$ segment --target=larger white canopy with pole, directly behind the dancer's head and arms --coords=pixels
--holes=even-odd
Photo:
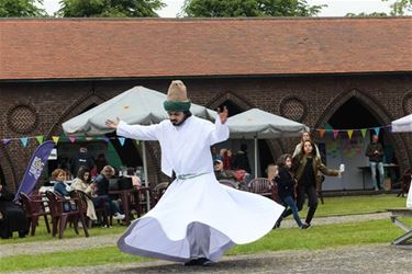
[[[105,101],[104,103],[63,123],[63,130],[70,136],[93,136],[113,132],[105,121],[116,117],[131,125],[151,125],[168,118],[163,103],[167,95],[138,85]],[[216,113],[204,106],[191,104],[190,112],[198,117],[214,121]],[[147,160],[145,141],[142,141],[143,169],[147,186]],[[147,199],[149,203],[149,199]],[[149,205],[148,205],[149,207]]]

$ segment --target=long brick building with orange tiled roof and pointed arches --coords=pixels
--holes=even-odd
[[[3,19],[0,136],[51,139],[63,122],[122,91],[166,92],[171,79],[211,109],[259,107],[312,128],[382,127],[412,112],[411,44],[412,18]],[[381,134],[401,171],[411,167],[411,134]],[[260,165],[296,142],[259,140]],[[10,189],[35,147],[0,145]],[[140,161],[140,147],[114,147],[123,161]],[[148,150],[149,181],[165,180],[158,146]]]

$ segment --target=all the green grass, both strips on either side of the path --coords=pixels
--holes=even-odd
[[[319,205],[315,217],[377,213],[385,212],[386,208],[404,207],[405,205],[405,198],[397,197],[394,194],[326,197],[324,201],[324,205]],[[305,212],[301,212],[301,216],[304,215]],[[405,219],[405,222],[412,226],[412,219]],[[120,235],[125,229],[125,226],[120,225],[115,225],[110,229],[92,228],[90,229],[90,235],[91,237],[99,235]],[[272,230],[256,242],[236,246],[229,251],[227,255],[281,250],[312,250],[339,246],[389,244],[402,233],[403,230],[392,225],[389,218],[361,222],[319,225],[309,230],[281,228]],[[65,231],[65,238],[83,237],[81,230],[80,235],[81,236],[76,236],[73,228],[67,228]],[[53,238],[46,232],[44,221],[42,220],[35,237],[29,236],[25,239],[14,238],[11,240],[0,240],[0,248],[8,248],[8,243],[29,241],[44,241],[44,244],[46,244],[46,241],[52,240],[58,241],[58,239]],[[124,254],[120,252],[116,247],[92,248],[78,251],[1,258],[0,272],[37,270],[49,267],[51,265],[54,265],[54,267],[82,266],[108,263],[131,263],[147,260],[149,259]]]

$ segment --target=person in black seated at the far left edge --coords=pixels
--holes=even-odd
[[[18,204],[13,203],[14,195],[3,187],[0,182],[0,237],[12,238],[13,231],[24,238],[29,232],[25,212]]]

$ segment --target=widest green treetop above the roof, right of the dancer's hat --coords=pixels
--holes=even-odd
[[[249,18],[312,16],[325,4],[309,5],[305,0],[186,0],[180,16]]]

